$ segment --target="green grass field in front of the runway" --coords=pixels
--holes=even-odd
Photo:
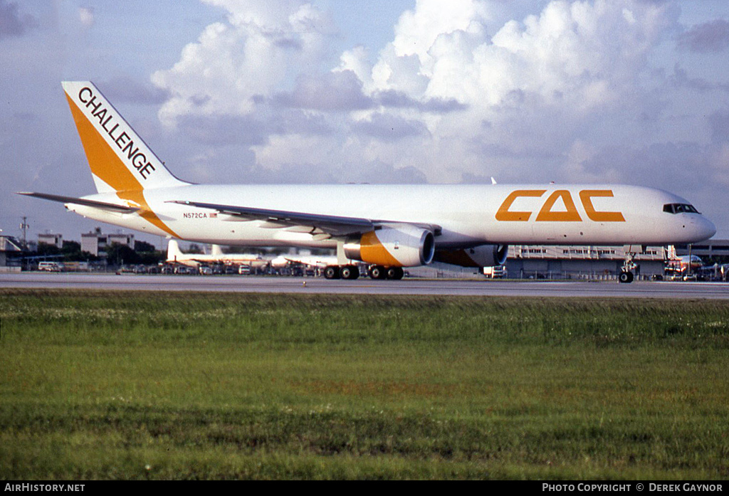
[[[0,290],[0,479],[726,479],[729,302]]]

